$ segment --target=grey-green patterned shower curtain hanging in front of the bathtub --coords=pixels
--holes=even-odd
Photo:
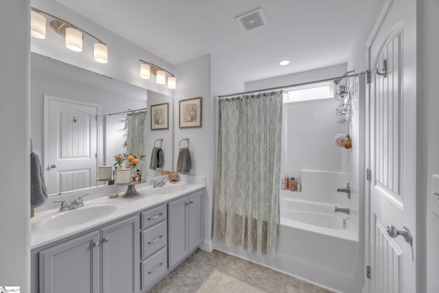
[[[276,255],[282,92],[219,99],[214,240]]]

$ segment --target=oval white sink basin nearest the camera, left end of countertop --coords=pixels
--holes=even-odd
[[[96,205],[91,207],[80,207],[71,211],[63,211],[51,215],[35,224],[41,229],[60,229],[69,226],[78,226],[86,222],[103,218],[116,211],[117,207],[113,205]]]

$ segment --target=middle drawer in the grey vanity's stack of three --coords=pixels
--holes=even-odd
[[[141,232],[142,250],[141,258],[153,255],[167,244],[167,221],[152,226]]]

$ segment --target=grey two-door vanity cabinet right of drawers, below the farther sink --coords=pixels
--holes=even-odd
[[[175,268],[203,240],[203,191],[168,204],[169,269]]]

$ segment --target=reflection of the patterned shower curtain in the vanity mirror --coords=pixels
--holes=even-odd
[[[134,155],[146,155],[146,117],[147,112],[134,112],[127,115],[127,153]],[[143,159],[142,163],[138,166],[140,167],[142,177],[146,176],[147,163]]]

